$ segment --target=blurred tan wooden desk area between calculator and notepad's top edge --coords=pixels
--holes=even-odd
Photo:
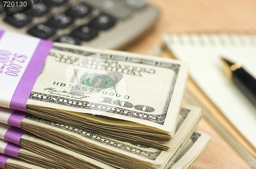
[[[146,54],[153,45],[162,43],[162,36],[165,33],[256,34],[256,1],[254,0],[146,1],[160,10],[160,18],[154,31],[127,51]]]

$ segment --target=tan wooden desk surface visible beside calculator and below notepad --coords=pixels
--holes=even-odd
[[[256,1],[254,0],[147,0],[147,2],[161,11],[159,21],[153,32],[126,51],[148,54],[154,45],[162,43],[164,33],[256,34]],[[211,135],[212,139],[196,163],[206,165],[220,163],[221,167],[218,168],[249,168],[244,166],[245,160],[204,118],[198,129]],[[229,163],[228,167],[223,166],[224,162]],[[243,162],[243,167],[232,167],[231,162]]]

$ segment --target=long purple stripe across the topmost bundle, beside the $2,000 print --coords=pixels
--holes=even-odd
[[[1,34],[1,33],[0,33]],[[12,96],[10,108],[25,111],[30,93],[45,64],[53,42],[41,39]]]

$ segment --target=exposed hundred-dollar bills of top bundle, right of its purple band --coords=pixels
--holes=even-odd
[[[174,136],[187,70],[176,60],[54,43],[26,111],[160,148]]]

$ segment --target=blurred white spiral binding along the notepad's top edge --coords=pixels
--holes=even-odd
[[[168,42],[184,45],[256,46],[256,35],[238,34],[169,34]]]

